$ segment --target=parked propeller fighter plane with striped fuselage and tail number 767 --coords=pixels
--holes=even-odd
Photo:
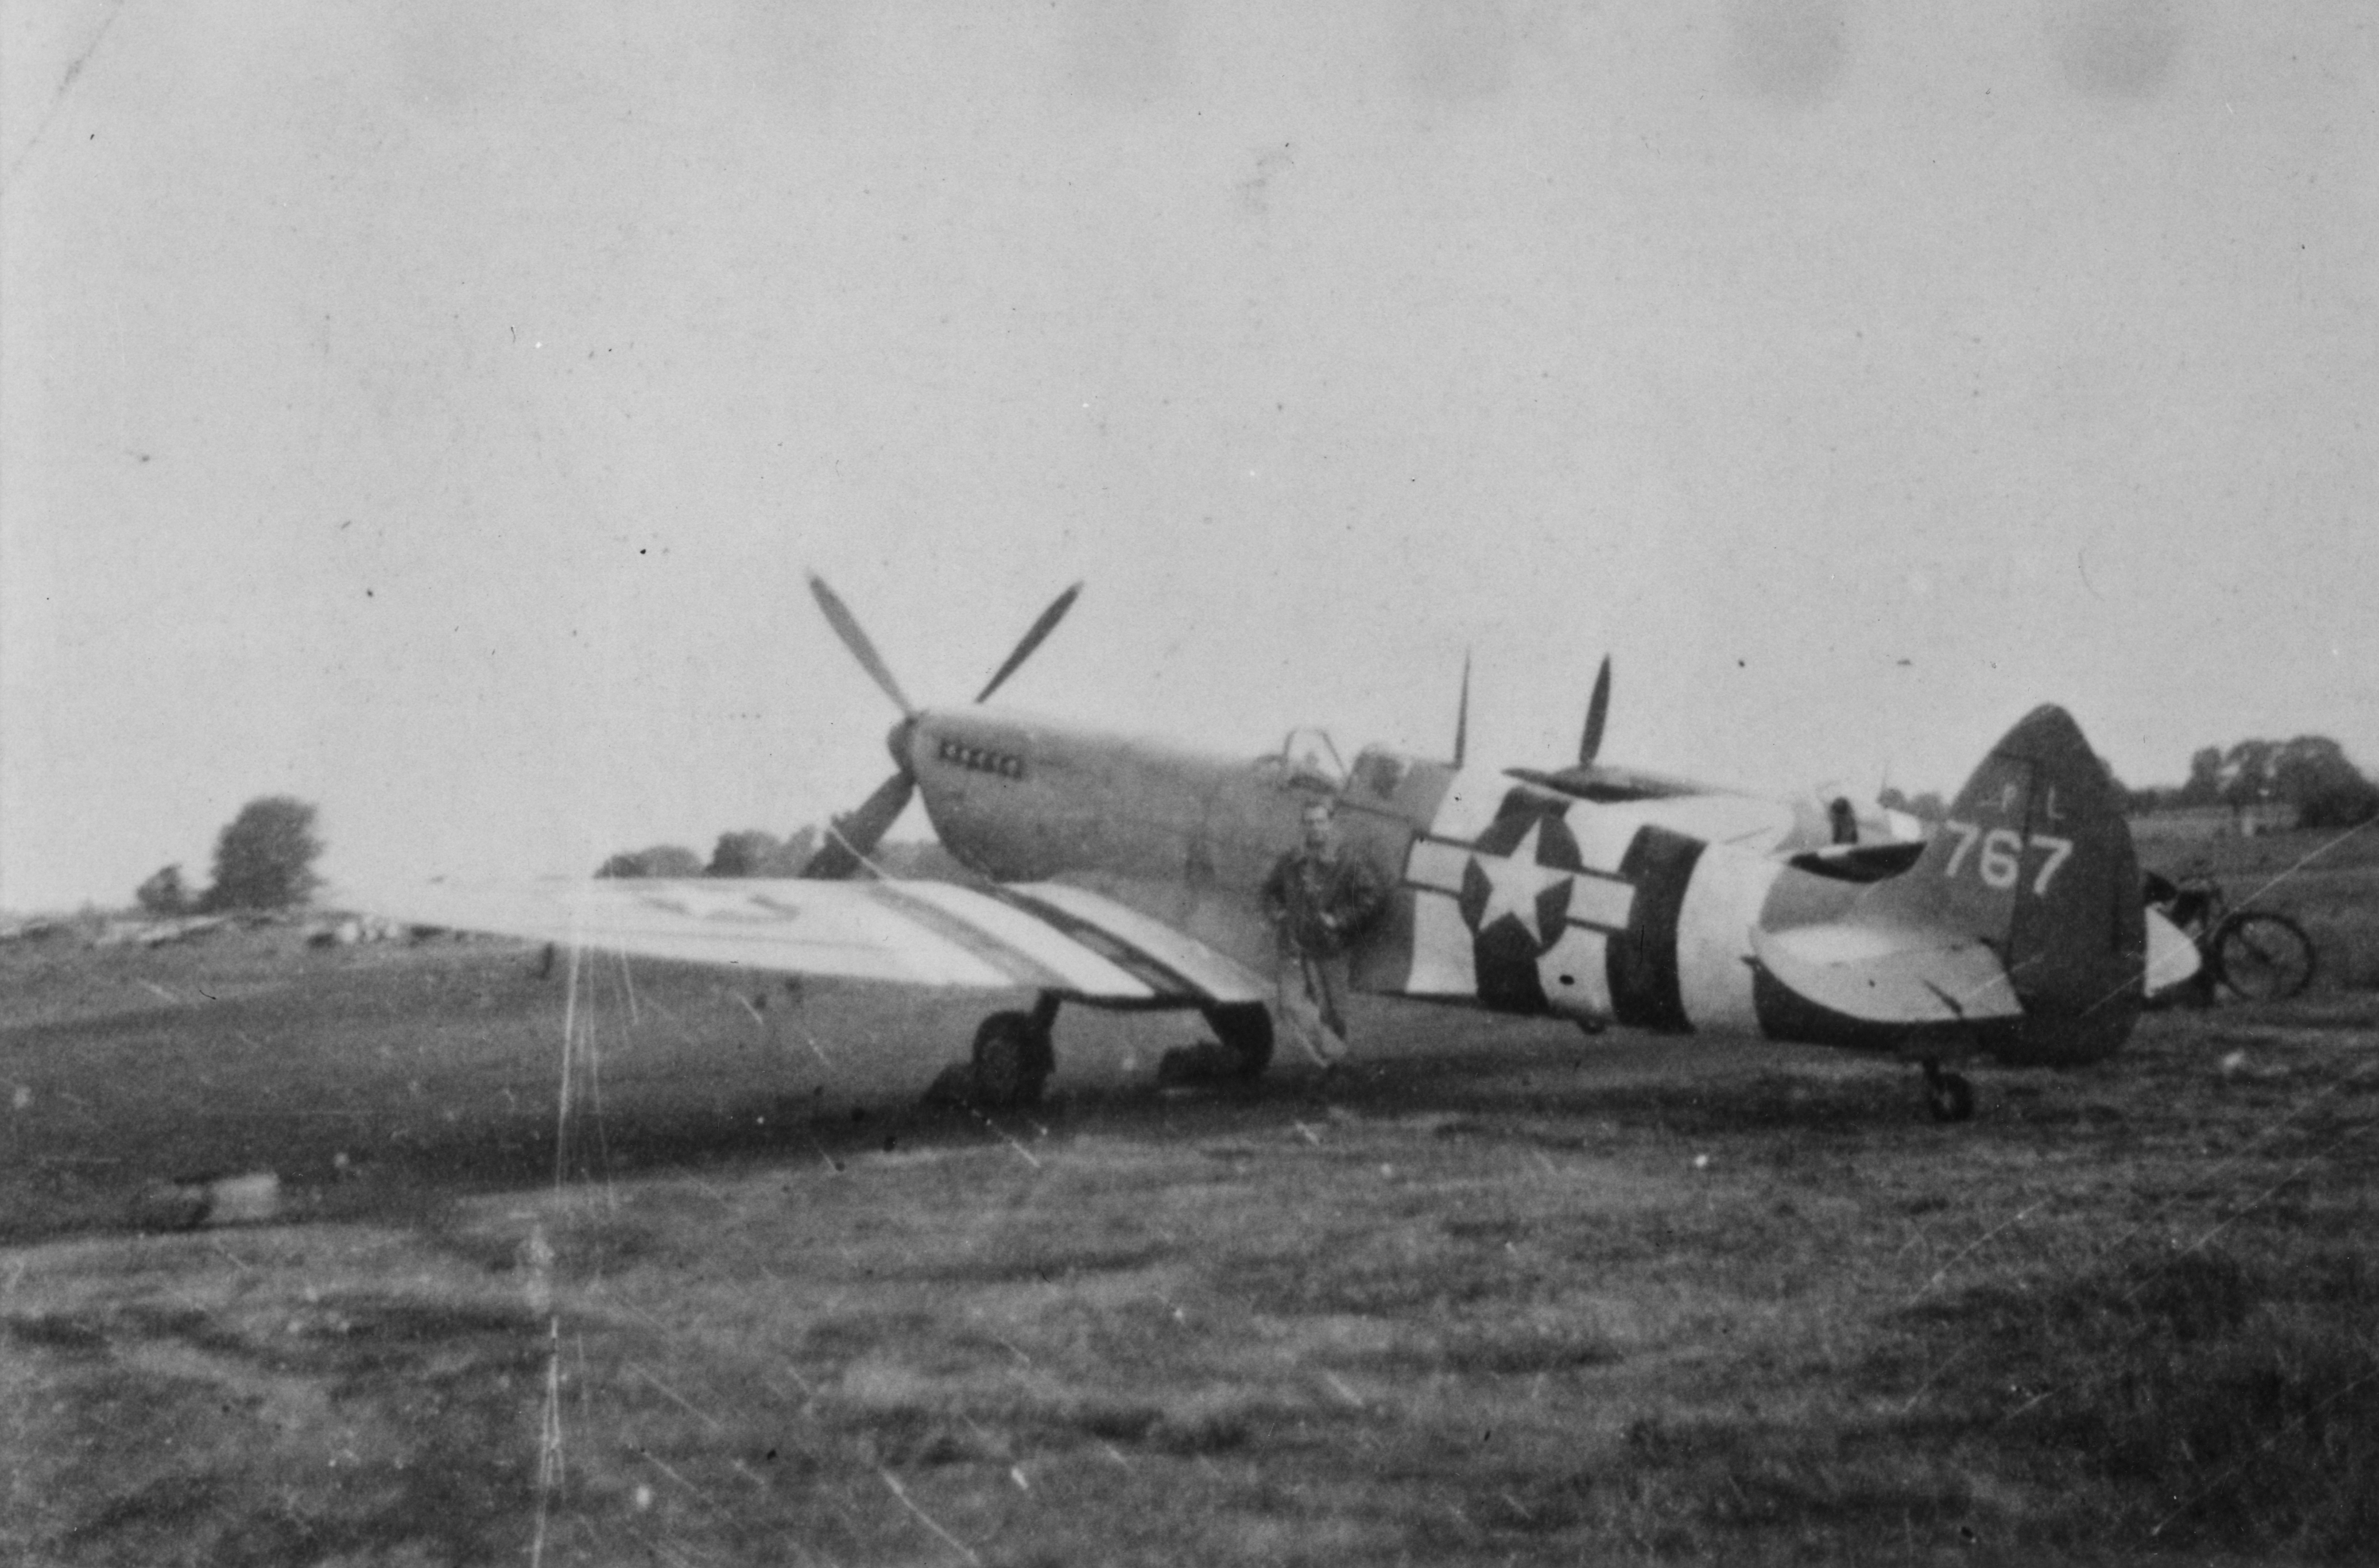
[[[1922,1066],[1941,1121],[1972,1114],[1953,1064],[2098,1061],[2143,992],[2196,964],[2141,907],[2120,799],[2058,707],[1991,747],[1929,838],[1829,854],[1744,835],[1744,797],[1596,771],[1599,719],[1563,776],[1389,747],[1342,766],[1318,733],[1247,759],[992,707],[1078,588],[973,704],[923,709],[811,576],[899,719],[892,776],[799,878],[433,883],[371,904],[416,926],[745,973],[1032,992],[975,1030],[983,1106],[1042,1095],[1063,1004],[1199,1011],[1216,1042],[1173,1066],[1258,1078],[1282,971],[1261,888],[1313,799],[1387,890],[1347,952],[1354,990],[1877,1052]],[[980,885],[873,876],[916,795]]]

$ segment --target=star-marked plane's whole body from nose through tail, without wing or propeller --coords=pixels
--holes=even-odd
[[[1661,1033],[2079,1064],[2143,992],[2139,873],[2063,709],[2010,730],[1927,842],[1796,852],[1744,795],[1589,802],[1382,747],[1351,769],[1225,757],[990,707],[897,730],[942,842],[1002,883],[1073,883],[1251,971],[1261,888],[1316,797],[1392,890],[1356,990]]]

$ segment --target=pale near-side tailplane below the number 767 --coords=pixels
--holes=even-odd
[[[1753,930],[1760,966],[1803,1002],[1856,1023],[2022,1018],[2008,966],[1975,937],[1889,926]]]

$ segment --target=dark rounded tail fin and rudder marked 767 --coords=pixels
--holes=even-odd
[[[2096,1061],[2139,1016],[2148,935],[2132,828],[2060,707],[2032,709],[1991,747],[1917,864],[1851,918],[1994,949],[2025,1009],[1991,1042],[2003,1059]]]

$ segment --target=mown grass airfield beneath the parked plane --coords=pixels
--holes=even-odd
[[[2303,999],[1948,1130],[1882,1064],[1385,1004],[1239,1097],[1068,1011],[987,1121],[916,1109],[980,999],[19,945],[0,1558],[2369,1561],[2362,849],[2267,892]],[[164,1228],[262,1171],[276,1221]]]

